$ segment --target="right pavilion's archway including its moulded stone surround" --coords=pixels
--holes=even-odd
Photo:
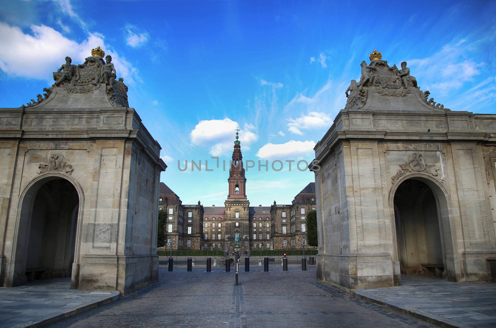
[[[458,281],[446,192],[423,176],[398,181],[391,190],[396,260],[401,274]]]

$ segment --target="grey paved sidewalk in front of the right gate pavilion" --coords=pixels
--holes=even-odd
[[[496,328],[496,283],[401,276],[401,286],[357,289],[355,297],[441,327]]]

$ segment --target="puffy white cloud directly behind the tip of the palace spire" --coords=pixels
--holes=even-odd
[[[233,150],[237,127],[238,123],[229,118],[200,121],[190,133],[191,144],[210,146],[212,156],[226,155]],[[252,124],[245,123],[239,132],[242,148],[248,150],[250,144],[258,139],[258,135],[251,131],[254,129]]]

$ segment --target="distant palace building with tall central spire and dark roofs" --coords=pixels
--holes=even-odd
[[[173,249],[231,251],[236,234],[241,250],[285,250],[307,246],[307,214],[315,209],[315,183],[310,183],[291,204],[250,206],[238,132],[229,170],[224,206],[184,205],[160,183],[159,210],[168,213],[166,231]],[[171,245],[168,245],[170,247]]]

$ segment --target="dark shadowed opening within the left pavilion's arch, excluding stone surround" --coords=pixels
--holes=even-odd
[[[70,277],[79,208],[76,189],[64,179],[48,181],[32,206],[25,241],[27,280]]]

